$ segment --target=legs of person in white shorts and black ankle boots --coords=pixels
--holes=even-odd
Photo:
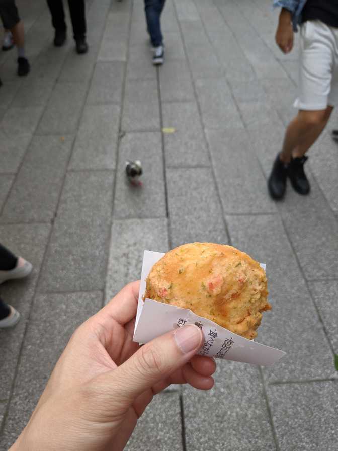
[[[304,173],[305,153],[328,121],[332,67],[334,61],[332,28],[320,21],[305,22],[300,31],[299,95],[294,104],[297,116],[290,122],[283,148],[275,159],[268,180],[271,197],[281,199],[289,176],[293,188],[308,194],[310,185]]]

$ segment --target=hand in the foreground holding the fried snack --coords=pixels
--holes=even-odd
[[[197,326],[132,341],[138,291],[139,282],[125,286],[74,332],[10,451],[120,451],[153,395],[170,384],[213,386],[214,360],[195,355]]]

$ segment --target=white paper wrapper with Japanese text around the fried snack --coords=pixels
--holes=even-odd
[[[234,334],[207,318],[195,315],[189,309],[181,309],[152,299],[145,299],[143,302],[145,279],[152,266],[163,255],[161,252],[144,251],[134,341],[147,343],[184,324],[193,323],[198,325],[204,334],[204,344],[198,352],[200,355],[263,366],[272,365],[285,355],[284,351]],[[265,269],[264,264],[261,266]]]

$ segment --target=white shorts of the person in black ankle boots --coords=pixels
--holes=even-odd
[[[338,104],[338,28],[306,21],[300,27],[299,110]]]

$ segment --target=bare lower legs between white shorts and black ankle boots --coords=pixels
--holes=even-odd
[[[299,110],[297,116],[290,122],[284,137],[280,159],[289,163],[291,156],[303,156],[316,141],[330,117],[332,107],[325,110]]]

